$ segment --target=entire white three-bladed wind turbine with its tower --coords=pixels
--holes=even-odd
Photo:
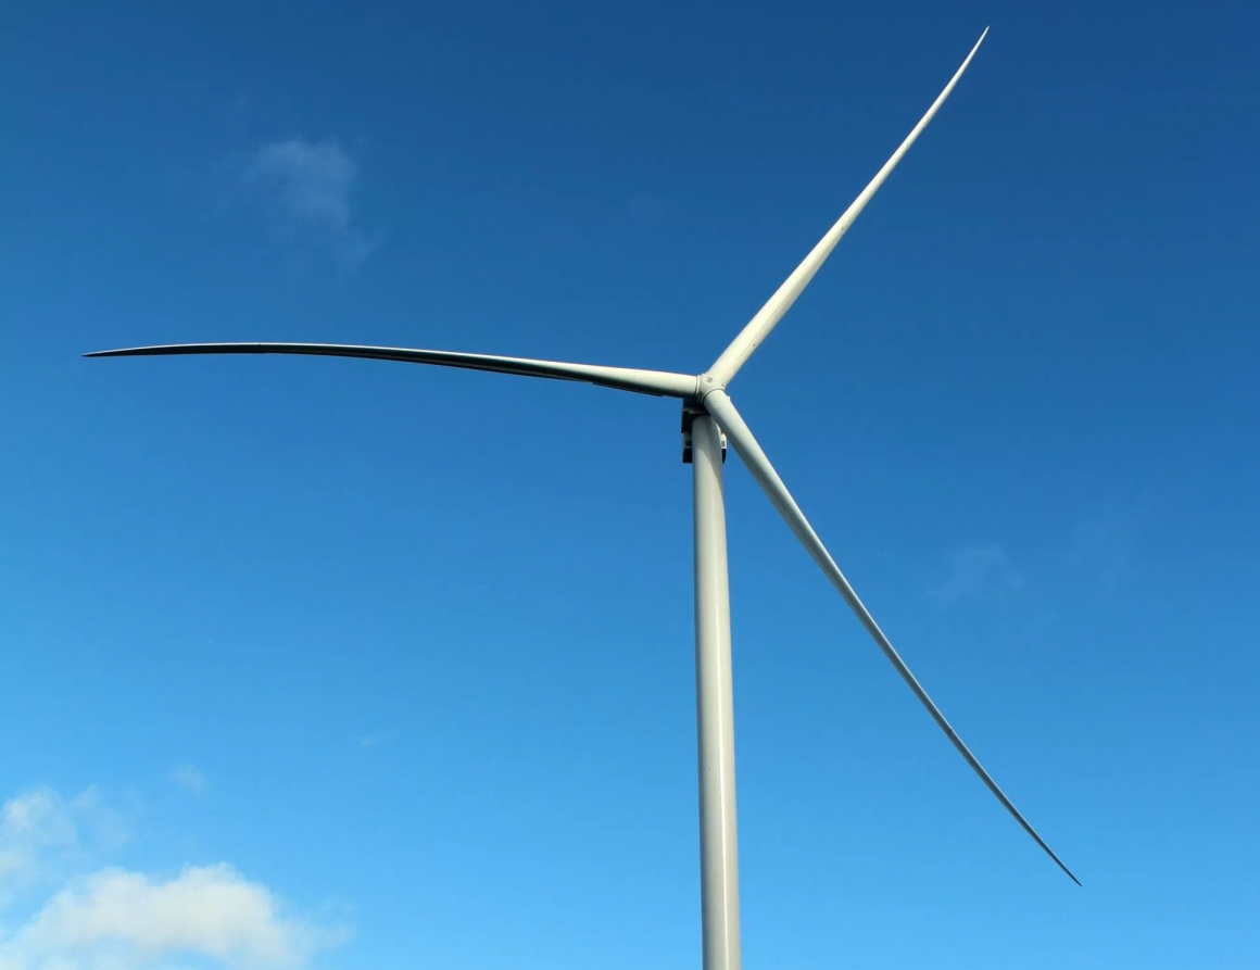
[[[493,370],[503,374],[577,380],[600,387],[631,391],[655,397],[673,397],[683,404],[683,461],[693,467],[693,513],[696,543],[696,695],[699,736],[699,804],[701,804],[701,912],[703,926],[704,970],[738,970],[740,967],[740,893],[736,852],[735,804],[735,714],[731,695],[731,605],[727,585],[726,506],[722,491],[722,464],[726,440],[735,446],[757,484],[782,515],[788,527],[800,539],[805,551],[827,574],[832,585],[874,639],[919,702],[945,732],[950,743],[980,776],[989,791],[1019,823],[1024,831],[1053,859],[1067,876],[1080,881],[1053,853],[1050,845],[1028,824],[1028,820],[1005,796],[980,762],[950,727],[940,708],[893,649],[883,630],[853,591],[844,573],[835,564],[822,539],[805,519],[782,479],[770,464],[766,452],[753,437],[727,387],[740,368],[765,341],[779,320],[818,272],[835,248],[840,237],[862,213],[871,197],[932,120],[940,106],[958,84],[979,50],[984,34],[945,86],[927,113],[915,125],[901,146],[885,163],[827,236],[810,251],[804,262],[788,277],[774,296],[740,331],[731,345],[701,374],[674,374],[663,370],[638,370],[621,367],[570,364],[556,360],[532,360],[489,354],[465,354],[449,350],[417,350],[389,346],[346,346],[340,344],[176,344],[139,346],[122,350],[101,350],[86,357],[141,357],[160,354],[323,354],[358,357],[375,360],[402,360],[412,364],[436,364],[469,370]],[[723,433],[724,432],[724,433]]]

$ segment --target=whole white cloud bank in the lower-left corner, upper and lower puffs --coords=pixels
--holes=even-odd
[[[79,816],[94,811],[100,799],[93,790],[86,795],[67,802],[34,789],[0,810],[6,860],[0,970],[121,970],[189,960],[207,970],[301,970],[349,937],[344,927],[290,913],[271,889],[226,863],[168,874],[97,868],[100,853],[81,838]],[[66,872],[54,863],[64,863],[71,848],[78,850],[77,868]]]

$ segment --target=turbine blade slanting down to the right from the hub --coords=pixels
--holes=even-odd
[[[784,485],[782,479],[779,477],[774,466],[770,464],[770,459],[757,445],[757,440],[752,437],[752,432],[748,426],[743,423],[743,418],[740,417],[740,412],[735,409],[735,404],[731,403],[723,392],[714,391],[704,398],[704,407],[708,408],[709,414],[717,421],[722,431],[726,432],[727,440],[735,446],[743,464],[748,466],[748,471],[752,472],[752,477],[757,480],[757,484],[774,503],[774,506],[779,509],[779,514],[784,516],[784,520],[800,539],[801,544],[814,558],[814,562],[822,567],[823,572],[827,573],[827,578],[832,581],[832,585],[839,590],[840,596],[849,605],[849,608],[857,613],[858,620],[867,629],[867,632],[874,637],[874,641],[883,650],[885,656],[892,661],[892,665],[897,668],[897,673],[901,674],[902,680],[910,685],[910,689],[915,692],[915,697],[919,702],[927,708],[927,713],[932,716],[932,719],[940,726],[940,729],[945,732],[945,736],[950,739],[958,752],[966,758],[966,763],[971,766],[971,770],[980,776],[980,780],[988,786],[989,791],[997,797],[998,801],[1009,811],[1016,821],[1018,821],[1023,830],[1027,831],[1033,840],[1046,850],[1058,868],[1067,873],[1072,882],[1077,886],[1081,884],[1080,879],[1072,876],[1071,869],[1063,865],[1062,860],[1055,855],[1053,850],[1045,843],[1041,835],[1028,824],[1028,820],[1019,814],[1019,810],[1012,804],[1011,799],[1005,796],[998,784],[989,776],[989,772],[984,770],[984,766],[976,761],[975,755],[971,753],[970,748],[963,743],[963,738],[958,736],[958,732],[950,727],[950,723],[945,719],[945,716],[940,712],[940,708],[932,703],[932,699],[927,697],[927,692],[924,690],[922,684],[915,678],[906,666],[906,661],[901,659],[901,655],[893,649],[888,637],[883,635],[883,630],[876,624],[874,617],[866,608],[858,595],[853,592],[853,587],[849,586],[849,581],[844,578],[844,573],[840,572],[840,567],[835,564],[830,553],[827,552],[827,547],[823,545],[822,539],[810,527],[805,515],[801,513],[796,501],[793,499],[791,493]]]

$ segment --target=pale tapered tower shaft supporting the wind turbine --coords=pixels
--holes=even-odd
[[[704,970],[740,970],[740,860],[735,814],[726,501],[722,494],[722,437],[708,414],[697,414],[692,422],[692,467]]]

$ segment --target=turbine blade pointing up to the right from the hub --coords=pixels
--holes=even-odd
[[[819,241],[805,261],[798,266],[793,275],[789,276],[782,286],[780,286],[775,295],[770,297],[765,306],[762,306],[756,316],[753,316],[740,335],[731,341],[731,345],[722,351],[722,355],[713,362],[713,367],[709,368],[708,373],[713,377],[713,382],[718,387],[724,387],[731,378],[733,378],[740,368],[743,367],[745,362],[752,357],[752,351],[756,350],[761,343],[770,335],[770,331],[775,329],[775,325],[782,319],[782,315],[788,312],[796,297],[800,296],[801,291],[809,285],[809,281],[814,278],[814,273],[818,272],[819,267],[827,261],[827,257],[832,254],[832,249],[835,248],[835,243],[840,241],[840,237],[848,232],[849,227],[853,224],[854,219],[862,214],[862,209],[866,204],[871,202],[871,197],[876,194],[878,188],[883,185],[885,179],[888,174],[897,168],[897,163],[901,161],[901,156],[906,154],[911,145],[915,144],[915,139],[919,137],[920,132],[927,127],[927,122],[932,120],[932,116],[945,103],[945,98],[949,97],[958,79],[963,77],[963,72],[966,71],[968,64],[971,63],[971,58],[975,57],[975,52],[980,49],[980,44],[984,43],[985,34],[989,33],[989,28],[984,28],[984,34],[980,34],[980,39],[975,42],[975,47],[971,48],[971,53],[966,55],[966,60],[963,66],[954,73],[950,82],[945,86],[945,89],[940,93],[932,106],[927,108],[927,113],[915,125],[914,131],[906,136],[906,140],[901,142],[892,157],[888,159],[883,168],[876,173],[876,176],[871,179],[871,184],[867,185],[862,194],[853,200],[853,204],[844,210],[839,222],[832,227],[830,232],[827,233]]]

